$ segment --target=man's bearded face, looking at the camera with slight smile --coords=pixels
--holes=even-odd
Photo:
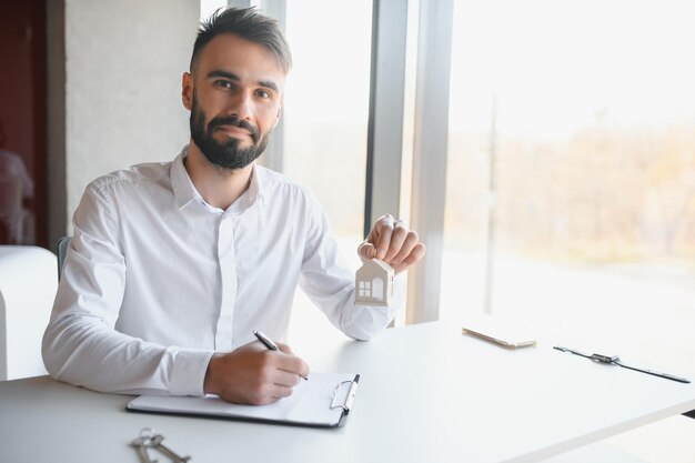
[[[284,73],[264,47],[233,34],[201,51],[193,76],[183,76],[191,138],[208,161],[242,169],[268,145],[280,119]]]

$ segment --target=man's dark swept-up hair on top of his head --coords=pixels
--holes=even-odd
[[[201,22],[195,43],[193,43],[191,72],[202,49],[221,33],[233,33],[250,42],[265,47],[274,54],[278,64],[284,73],[290,72],[292,54],[278,21],[259,13],[254,7],[221,8],[208,20]]]

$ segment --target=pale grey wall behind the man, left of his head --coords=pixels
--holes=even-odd
[[[181,74],[199,14],[195,0],[64,0],[69,224],[91,180],[188,141]]]

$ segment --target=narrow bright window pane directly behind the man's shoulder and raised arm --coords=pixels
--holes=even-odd
[[[285,174],[314,191],[348,265],[356,270],[364,238],[372,2],[336,4],[288,1],[294,66],[285,89],[283,165]],[[309,304],[298,292],[293,332],[323,319],[302,320],[318,313],[304,310]]]

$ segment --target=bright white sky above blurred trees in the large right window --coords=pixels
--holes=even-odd
[[[695,4],[676,0],[456,1],[453,130],[564,137],[607,110],[624,125],[695,123]]]

